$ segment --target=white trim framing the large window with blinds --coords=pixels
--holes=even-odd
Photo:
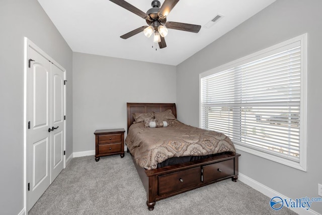
[[[237,150],[241,150],[280,164],[287,165],[289,167],[293,167],[302,171],[306,172],[306,147],[307,147],[307,33],[302,34],[300,36],[294,37],[292,39],[289,39],[287,41],[281,42],[279,44],[273,45],[269,48],[263,49],[261,51],[258,51],[256,53],[247,55],[245,57],[241,57],[239,59],[233,60],[232,62],[220,65],[216,68],[210,69],[208,71],[205,71],[204,73],[201,73],[199,75],[199,127],[201,127],[201,79],[216,73],[219,73],[220,71],[224,71],[239,65],[243,65],[247,62],[254,61],[255,59],[259,59],[262,57],[262,55],[265,55],[267,52],[274,51],[278,53],[282,47],[287,46],[291,43],[300,41],[301,44],[301,101],[300,101],[300,160],[299,162],[292,161],[286,158],[282,158],[276,155],[272,155],[269,153],[265,153],[262,151],[257,151],[255,149],[251,149],[245,146],[238,145],[234,143],[235,148]]]

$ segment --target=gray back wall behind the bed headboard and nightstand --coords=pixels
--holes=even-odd
[[[96,129],[124,128],[126,102],[176,102],[176,66],[73,53],[73,151],[95,150]]]

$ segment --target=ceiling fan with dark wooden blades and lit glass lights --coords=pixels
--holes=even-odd
[[[165,0],[161,6],[160,2],[153,0],[150,8],[146,13],[134,7],[124,0],[110,0],[116,5],[142,17],[145,19],[148,26],[142,26],[133,31],[130,31],[121,36],[123,39],[127,39],[143,31],[146,37],[150,37],[153,34],[153,42],[157,42],[160,48],[167,47],[165,36],[168,34],[168,28],[177,29],[181,31],[189,31],[198,33],[201,26],[180,22],[167,22],[167,16],[171,10],[176,6],[179,0]],[[160,7],[161,6],[161,7]]]

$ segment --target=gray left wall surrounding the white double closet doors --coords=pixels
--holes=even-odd
[[[36,0],[0,1],[0,213],[24,208],[24,37],[67,70],[72,51]],[[67,85],[67,156],[72,153],[72,93]]]

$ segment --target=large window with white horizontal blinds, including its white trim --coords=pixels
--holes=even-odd
[[[306,37],[200,74],[200,127],[306,171]]]

